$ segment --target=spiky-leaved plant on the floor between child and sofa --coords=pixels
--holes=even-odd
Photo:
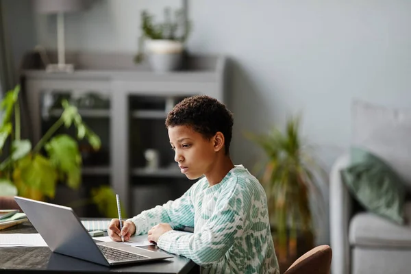
[[[280,264],[287,264],[299,256],[297,238],[305,240],[306,249],[313,247],[310,194],[316,197],[314,200],[318,202],[320,214],[323,201],[318,184],[324,175],[323,169],[301,140],[299,120],[299,117],[288,119],[284,133],[275,128],[269,134],[248,134],[267,156],[258,163],[258,177],[266,190]]]

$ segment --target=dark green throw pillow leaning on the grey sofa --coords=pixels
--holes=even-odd
[[[353,196],[379,216],[402,225],[406,190],[401,178],[384,161],[364,149],[351,149],[351,165],[340,171]]]

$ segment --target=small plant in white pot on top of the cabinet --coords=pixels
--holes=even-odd
[[[153,16],[146,10],[141,13],[142,34],[138,40],[139,53],[135,62],[142,61],[142,48],[145,44],[149,63],[155,72],[175,71],[182,67],[184,42],[190,31],[190,24],[182,10],[175,11],[171,19],[170,8],[164,9],[164,23],[153,23]]]

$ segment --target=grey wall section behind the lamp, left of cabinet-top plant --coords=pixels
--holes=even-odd
[[[182,1],[92,0],[88,10],[65,15],[66,49],[134,52],[140,35],[141,10],[162,18],[165,6],[179,8]],[[38,44],[57,47],[55,20],[56,16],[37,14]]]

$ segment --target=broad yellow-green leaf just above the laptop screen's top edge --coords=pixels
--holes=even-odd
[[[54,197],[58,173],[47,158],[39,154],[27,155],[18,160],[15,172],[19,173],[23,184],[40,190],[47,197]]]

